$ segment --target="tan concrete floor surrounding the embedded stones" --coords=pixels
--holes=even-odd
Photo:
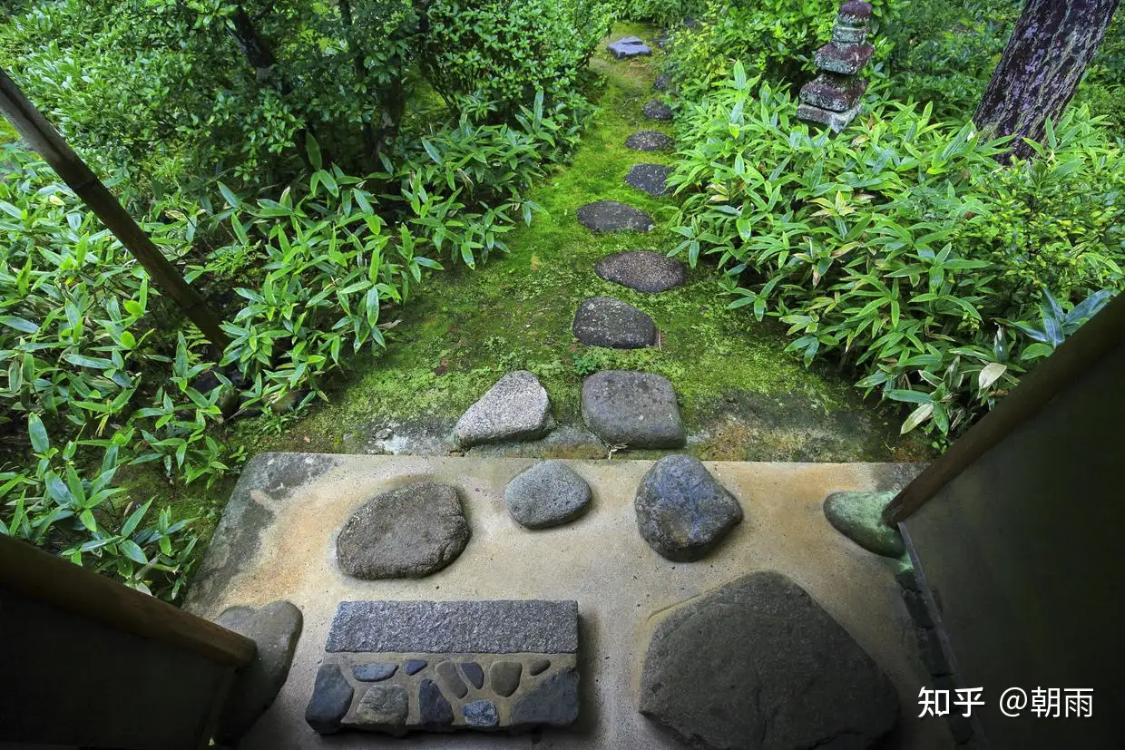
[[[891,749],[952,747],[942,721],[918,720],[926,679],[893,579],[894,563],[838,534],[820,503],[836,490],[891,489],[918,464],[735,463],[708,468],[746,521],[706,558],[672,563],[637,532],[632,500],[649,461],[570,462],[594,490],[575,523],[531,532],[506,514],[503,489],[528,459],[263,454],[246,468],[189,594],[214,617],[230,605],[285,598],[304,612],[292,670],[240,746],[289,748],[606,748],[682,744],[637,712],[648,636],[662,614],[745,572],[773,569],[803,586],[890,675],[902,716]],[[335,534],[362,501],[433,478],[459,488],[472,537],[450,567],[421,580],[362,581],[335,566]],[[521,737],[375,734],[321,738],[304,721],[328,623],[344,599],[577,599],[583,706],[569,731]]]

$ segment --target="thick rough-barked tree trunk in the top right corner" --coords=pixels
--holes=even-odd
[[[1119,0],[1027,0],[973,121],[989,136],[1015,135],[1010,155],[1027,157],[1023,138],[1040,141],[1074,96]]]

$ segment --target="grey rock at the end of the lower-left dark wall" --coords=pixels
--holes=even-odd
[[[215,728],[217,741],[234,744],[270,707],[285,684],[304,620],[292,604],[271,602],[256,609],[231,607],[215,622],[258,647],[253,661],[235,674]]]

